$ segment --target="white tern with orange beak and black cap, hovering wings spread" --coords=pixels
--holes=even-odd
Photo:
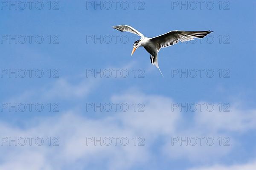
[[[140,40],[137,40],[133,44],[133,50],[131,52],[131,55],[134,54],[134,51],[139,47],[144,47],[146,51],[150,54],[150,61],[152,65],[155,65],[159,71],[160,68],[158,66],[157,62],[157,54],[160,51],[161,48],[166,48],[171,45],[177,44],[179,41],[190,41],[194,40],[194,38],[204,38],[207,34],[210,34],[213,31],[170,31],[166,34],[154,37],[154,38],[148,38],[145,37],[143,34],[141,34],[139,31],[137,31],[135,28],[131,26],[121,25],[121,26],[113,26],[113,28],[119,30],[119,31],[127,31],[131,32],[133,34],[137,34],[141,37]],[[160,71],[162,74],[162,72]],[[163,76],[163,74],[162,74]]]

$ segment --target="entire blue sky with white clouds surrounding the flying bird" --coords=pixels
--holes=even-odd
[[[19,9],[23,6],[17,1],[17,10],[9,6],[10,2],[1,1],[0,9],[0,150],[5,153],[0,156],[0,169],[255,169],[253,0],[203,1],[202,8],[196,3],[195,9],[197,1],[182,1],[185,6],[169,0],[117,1],[116,9],[112,1],[50,1],[50,7],[48,1],[40,1],[44,4],[41,10],[37,9],[40,2],[35,6],[38,1],[32,3],[32,9],[28,3]],[[102,9],[95,9],[95,3],[102,4]],[[130,56],[135,36],[112,28],[123,24],[146,37],[171,30],[214,32],[196,42],[161,49],[158,62],[163,78],[144,48]],[[17,43],[9,42],[9,36],[15,39],[15,35]],[[23,37],[25,43],[21,43]],[[44,40],[38,43],[35,37]],[[96,42],[95,37],[99,39]],[[9,75],[15,69],[17,77]],[[22,78],[24,70],[26,76]],[[93,75],[101,70],[106,74],[111,71],[112,76]],[[188,77],[173,74],[186,70]],[[214,76],[209,78],[207,70]],[[128,77],[123,78],[120,71],[128,71]],[[195,78],[193,71],[197,72]],[[44,75],[38,78],[41,72]],[[26,109],[21,112],[23,103]],[[32,111],[27,103],[33,103]],[[101,103],[102,107],[110,104],[112,109],[96,109]],[[115,111],[113,103],[128,105],[129,109],[123,111],[118,106]],[[199,107],[198,103],[214,105],[215,109],[180,111],[180,106]],[[17,107],[10,107],[15,104]],[[43,111],[35,109],[36,104],[43,105]],[[226,107],[229,112],[224,111]],[[9,143],[10,137],[22,140],[29,136],[41,137],[44,144]],[[129,144],[87,145],[88,137],[125,137]],[[139,137],[144,139],[144,146],[138,146]],[[180,137],[210,137],[215,143],[172,144]],[[224,145],[224,137],[228,137],[229,146]],[[57,139],[58,146],[53,146]]]

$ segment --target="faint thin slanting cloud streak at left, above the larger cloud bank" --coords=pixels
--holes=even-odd
[[[8,102],[49,102],[56,99],[71,101],[87,97],[99,85],[99,79],[82,77],[79,80],[73,84],[69,79],[58,78],[49,85],[24,91],[19,96],[8,99]]]

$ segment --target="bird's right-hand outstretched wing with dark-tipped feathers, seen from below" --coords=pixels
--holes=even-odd
[[[179,41],[190,41],[194,38],[204,38],[207,34],[213,31],[170,31],[166,34],[151,38],[159,51],[161,48],[169,47],[178,43]]]

